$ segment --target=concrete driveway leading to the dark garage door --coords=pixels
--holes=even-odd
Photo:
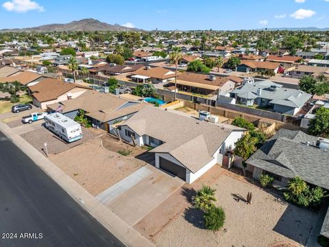
[[[145,165],[107,189],[107,197],[104,191],[96,198],[127,224],[134,226],[184,183],[178,177],[170,176],[151,165]]]

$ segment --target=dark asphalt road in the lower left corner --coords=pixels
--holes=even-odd
[[[124,246],[1,132],[0,234],[9,247]]]

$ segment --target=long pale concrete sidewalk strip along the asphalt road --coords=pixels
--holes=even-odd
[[[126,246],[153,246],[149,240],[129,226],[120,217],[114,214],[105,205],[99,202],[88,191],[82,188],[70,176],[51,163],[49,159],[40,154],[32,145],[16,134],[14,130],[0,121],[0,130],[12,140],[29,158],[32,159],[48,176],[60,185],[69,195],[76,200],[90,215],[101,223],[108,231],[117,237]]]

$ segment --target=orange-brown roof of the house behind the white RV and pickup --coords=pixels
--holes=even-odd
[[[63,95],[76,87],[90,89],[86,86],[75,83],[65,83],[61,80],[52,78],[47,78],[33,86],[28,86],[29,90],[32,92],[32,96],[35,97],[38,102],[47,102],[49,100],[58,99],[60,95]]]

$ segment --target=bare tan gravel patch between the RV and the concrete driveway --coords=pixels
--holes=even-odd
[[[99,138],[49,159],[94,196],[145,165],[136,158],[103,149]]]

